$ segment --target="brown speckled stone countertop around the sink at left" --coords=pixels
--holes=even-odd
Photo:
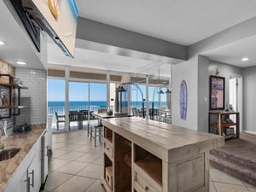
[[[12,136],[2,137],[0,139],[0,143],[3,143],[4,149],[20,148],[20,151],[15,157],[0,161],[0,191],[4,189],[6,183],[8,183],[9,179],[13,176],[21,161],[26,157],[26,154],[28,154],[45,130],[45,124],[32,125],[31,131],[15,133]]]

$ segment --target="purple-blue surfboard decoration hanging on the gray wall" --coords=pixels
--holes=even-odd
[[[179,108],[180,108],[180,118],[186,119],[187,117],[187,104],[188,104],[188,90],[185,80],[182,80],[180,84],[179,91]]]

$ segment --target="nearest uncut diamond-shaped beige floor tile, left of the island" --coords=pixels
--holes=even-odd
[[[83,163],[78,161],[72,161],[67,163],[65,166],[61,166],[61,168],[57,169],[55,172],[64,172],[67,174],[76,174],[77,172],[84,169],[85,166],[88,166],[89,163]]]

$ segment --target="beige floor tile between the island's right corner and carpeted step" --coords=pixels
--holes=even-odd
[[[239,178],[233,177],[225,172],[221,172],[218,169],[210,169],[210,175],[213,182],[238,184],[244,186]]]

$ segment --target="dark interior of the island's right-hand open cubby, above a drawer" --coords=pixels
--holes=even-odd
[[[157,157],[148,154],[142,160],[137,160],[135,163],[147,172],[154,181],[162,185],[162,163]]]

